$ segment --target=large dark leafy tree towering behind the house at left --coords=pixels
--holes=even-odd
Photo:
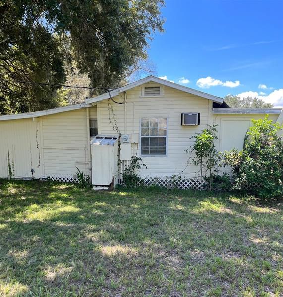
[[[163,31],[164,0],[0,0],[0,78],[63,84],[76,63],[96,88],[119,86]],[[63,104],[59,87],[0,82],[0,113]],[[100,90],[102,92],[102,90]]]

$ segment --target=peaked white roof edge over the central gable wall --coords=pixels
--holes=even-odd
[[[104,99],[108,99],[108,98],[110,98],[110,96],[111,97],[117,96],[121,92],[125,92],[125,91],[127,91],[129,89],[132,89],[134,87],[140,86],[140,85],[148,83],[148,82],[155,82],[155,83],[158,83],[158,84],[161,84],[161,85],[164,85],[164,86],[168,86],[168,87],[171,87],[171,88],[174,88],[174,89],[177,89],[177,90],[189,93],[189,94],[193,94],[193,95],[196,95],[196,96],[200,96],[200,97],[212,100],[213,102],[217,102],[217,103],[222,103],[223,102],[223,98],[221,98],[221,97],[210,95],[210,94],[207,94],[207,93],[195,90],[195,89],[191,89],[191,88],[188,88],[188,87],[176,84],[176,83],[172,83],[170,81],[167,81],[167,80],[155,77],[153,75],[150,75],[150,76],[147,76],[145,78],[139,79],[139,80],[137,80],[137,81],[135,81],[133,83],[127,84],[127,85],[125,85],[123,87],[120,87],[118,89],[110,91],[109,92],[110,94],[107,92],[107,93],[104,93],[104,94],[96,96],[96,97],[88,98],[88,99],[86,99],[86,103],[91,104],[91,103],[99,102],[99,101],[104,100]]]

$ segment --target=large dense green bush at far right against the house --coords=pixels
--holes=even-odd
[[[243,150],[224,152],[223,163],[232,167],[235,189],[264,199],[282,197],[283,142],[278,131],[283,126],[268,116],[252,122]]]

